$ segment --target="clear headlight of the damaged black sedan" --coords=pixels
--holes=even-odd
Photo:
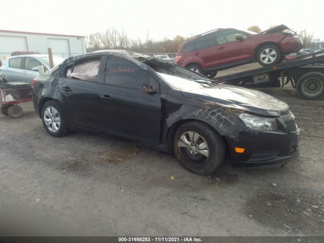
[[[245,125],[247,125],[247,127],[250,129],[271,131],[278,130],[276,118],[262,117],[246,113],[239,114],[239,118],[241,118]]]

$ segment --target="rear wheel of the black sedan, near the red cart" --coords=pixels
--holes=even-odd
[[[50,100],[44,104],[42,121],[45,130],[53,137],[62,137],[69,132],[62,109],[59,103],[54,100]]]

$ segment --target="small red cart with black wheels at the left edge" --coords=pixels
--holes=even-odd
[[[31,85],[23,82],[3,83],[0,85],[1,113],[19,118],[23,110],[19,103],[32,101]]]

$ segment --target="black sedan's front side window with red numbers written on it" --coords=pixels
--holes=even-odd
[[[158,88],[157,81],[141,67],[119,57],[107,57],[105,84],[141,89],[144,84]]]

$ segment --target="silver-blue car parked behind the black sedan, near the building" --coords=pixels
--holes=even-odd
[[[63,62],[65,59],[53,56],[54,66]],[[48,55],[19,55],[9,57],[0,67],[0,74],[6,75],[7,82],[26,82],[31,84],[38,73],[38,66],[44,66],[44,71],[50,70]]]

